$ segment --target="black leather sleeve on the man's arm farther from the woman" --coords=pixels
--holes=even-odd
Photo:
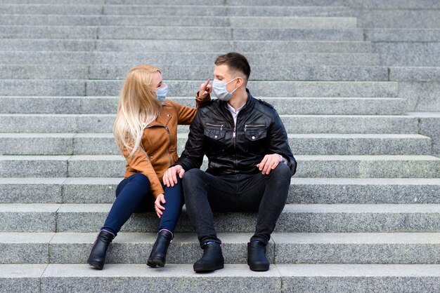
[[[292,176],[295,175],[295,172],[297,172],[297,161],[292,154],[292,149],[290,149],[283,121],[281,121],[281,118],[276,111],[275,116],[273,117],[273,122],[268,129],[268,151],[283,156],[283,158],[287,160],[290,174],[292,174]]]

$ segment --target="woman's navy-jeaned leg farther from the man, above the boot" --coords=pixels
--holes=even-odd
[[[122,180],[117,186],[116,196],[104,226],[101,228],[101,230],[109,231],[115,236],[122,225],[131,217],[131,214],[148,210],[148,206],[146,206],[148,203],[151,207],[154,204],[150,192],[150,181],[140,173]]]

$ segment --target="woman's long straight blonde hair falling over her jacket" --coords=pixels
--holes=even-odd
[[[131,158],[138,149],[142,149],[143,129],[155,121],[162,103],[151,90],[153,74],[160,69],[153,65],[137,65],[130,69],[124,81],[113,132],[117,147],[127,148]]]

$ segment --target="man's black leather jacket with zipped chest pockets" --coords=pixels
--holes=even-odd
[[[226,102],[213,100],[200,107],[190,125],[185,150],[175,165],[186,171],[200,168],[205,154],[209,160],[206,172],[212,175],[256,174],[261,172],[256,165],[267,154],[283,156],[292,175],[297,168],[280,116],[248,90],[236,128]]]

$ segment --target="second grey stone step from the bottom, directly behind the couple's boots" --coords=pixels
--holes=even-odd
[[[106,264],[146,264],[156,233],[120,233]],[[86,264],[96,233],[0,233],[1,264]],[[252,233],[219,233],[226,264],[246,264]],[[273,264],[438,264],[440,233],[273,233]],[[200,258],[195,233],[176,233],[167,264]]]

